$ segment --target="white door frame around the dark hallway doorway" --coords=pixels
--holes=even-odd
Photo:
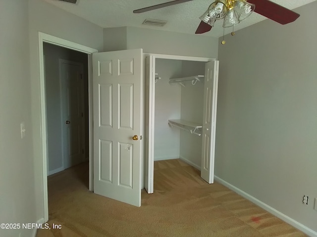
[[[60,47],[72,49],[75,51],[86,53],[88,56],[88,126],[89,126],[89,190],[93,191],[93,141],[92,141],[92,63],[91,54],[97,53],[98,50],[90,48],[69,40],[63,40],[42,32],[39,32],[39,67],[40,67],[40,91],[41,91],[41,144],[42,144],[42,158],[43,158],[43,200],[44,200],[44,220],[49,220],[49,204],[48,204],[48,182],[47,182],[47,160],[48,160],[48,146],[47,146],[47,110],[46,110],[46,92],[45,92],[45,76],[44,76],[44,51],[43,43],[51,43]]]

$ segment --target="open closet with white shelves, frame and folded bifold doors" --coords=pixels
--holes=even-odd
[[[218,61],[146,57],[145,188],[153,193],[154,161],[180,158],[213,183]]]

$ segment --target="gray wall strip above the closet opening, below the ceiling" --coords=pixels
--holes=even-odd
[[[105,51],[143,48],[145,53],[217,58],[218,39],[138,27],[104,29]]]

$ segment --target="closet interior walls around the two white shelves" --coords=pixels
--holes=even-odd
[[[205,63],[156,59],[154,160],[181,158],[200,169],[202,137],[177,127],[168,119],[184,119],[202,124],[204,80],[195,85],[169,83],[169,79],[205,74]]]

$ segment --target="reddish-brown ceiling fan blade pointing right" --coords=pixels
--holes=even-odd
[[[282,25],[295,21],[300,15],[269,0],[248,0],[256,5],[255,12]]]

